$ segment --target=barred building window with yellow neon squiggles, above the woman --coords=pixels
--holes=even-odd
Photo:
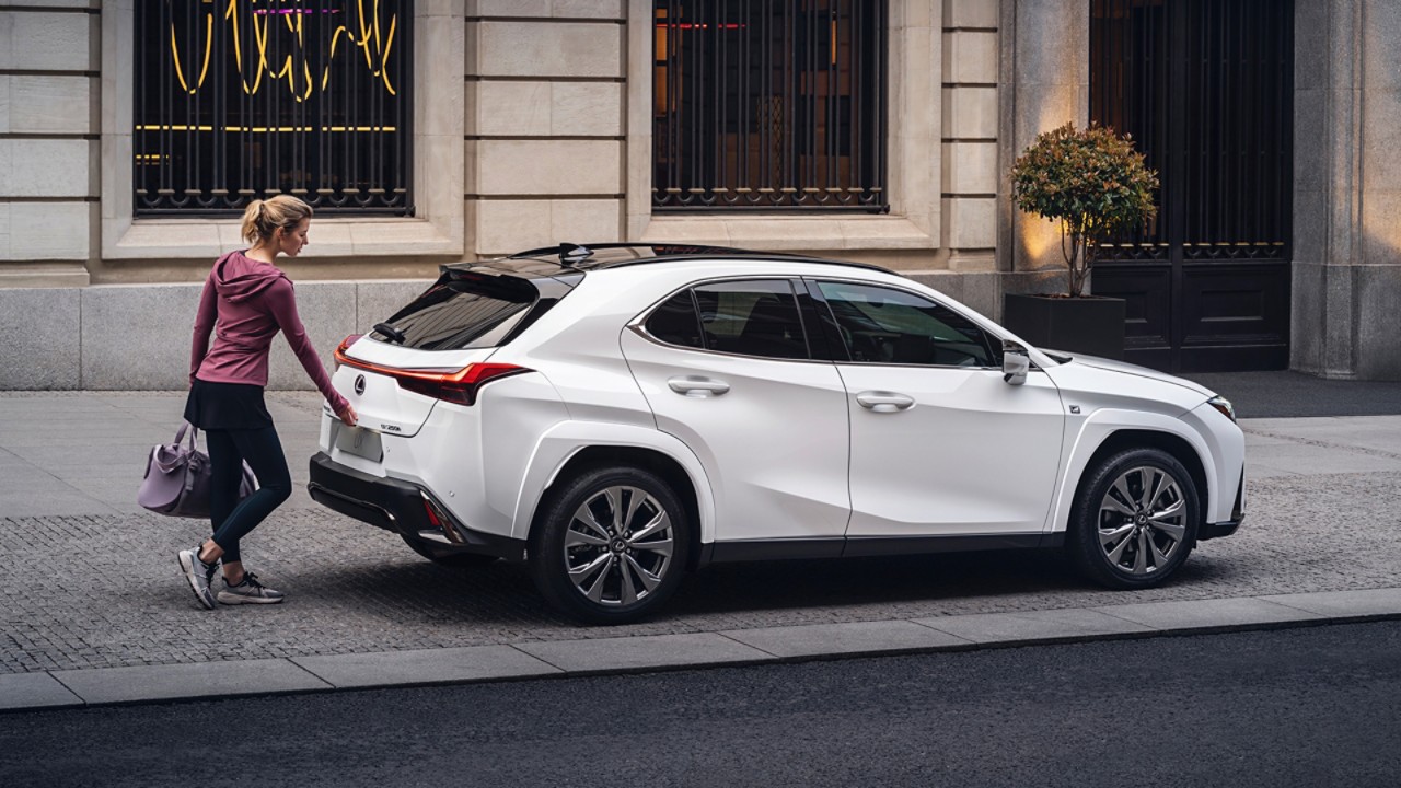
[[[413,213],[408,0],[151,0],[134,14],[136,216]]]

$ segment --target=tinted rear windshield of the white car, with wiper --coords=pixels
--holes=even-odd
[[[451,272],[385,322],[403,334],[405,348],[495,348],[520,327],[537,299],[539,292],[524,279]],[[396,344],[380,331],[370,337]]]

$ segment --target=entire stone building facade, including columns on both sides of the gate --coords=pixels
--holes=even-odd
[[[0,0],[0,388],[185,386],[235,220],[134,219],[143,0]],[[444,262],[569,241],[703,243],[873,262],[998,317],[1049,289],[1055,229],[1006,170],[1089,118],[1090,0],[888,0],[888,213],[651,208],[649,0],[416,0],[412,217],[325,217],[287,265],[317,346]],[[1295,6],[1290,366],[1401,379],[1401,4]],[[282,344],[273,387],[307,387]]]

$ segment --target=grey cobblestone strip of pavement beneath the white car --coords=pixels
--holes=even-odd
[[[0,519],[0,673],[1388,587],[1401,585],[1398,482],[1252,481],[1241,531],[1147,592],[1089,587],[1049,552],[717,565],[688,578],[661,617],[612,628],[558,617],[520,565],[440,568],[317,509],[277,512],[245,541],[249,566],[289,600],[214,611],[196,607],[175,562],[198,522]]]

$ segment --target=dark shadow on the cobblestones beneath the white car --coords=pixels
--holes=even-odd
[[[1189,561],[1173,585],[1210,578],[1209,566]],[[317,595],[359,614],[381,613],[401,624],[436,623],[507,628],[528,638],[556,627],[581,627],[549,607],[524,564],[447,568],[429,561],[395,561],[366,566],[326,566],[307,580]],[[1056,551],[1013,550],[881,558],[759,561],[715,564],[684,578],[677,595],[653,617],[636,625],[670,631],[785,625],[804,623],[794,611],[824,610],[825,620],[843,610],[890,607],[885,617],[941,616],[979,609],[1140,602],[1140,593],[1105,592],[1080,578]],[[1051,603],[1048,604],[1048,597]],[[1055,599],[1065,603],[1055,603]],[[1006,604],[999,600],[1005,600]],[[947,604],[944,604],[947,603]],[[881,617],[862,610],[860,620]],[[647,625],[653,627],[647,627]]]

